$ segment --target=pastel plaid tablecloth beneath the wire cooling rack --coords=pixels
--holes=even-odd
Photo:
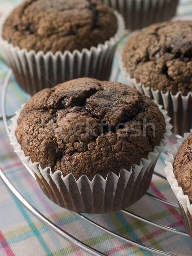
[[[0,0],[0,24],[7,13],[10,12],[21,0]],[[192,0],[181,0],[175,19],[192,19]],[[114,58],[113,73],[111,79],[118,71],[118,52],[124,41],[119,44]],[[4,59],[0,51],[1,59]],[[0,90],[8,72],[4,60],[0,61]],[[119,73],[118,80],[125,82]],[[12,76],[6,97],[7,115],[13,115],[15,110],[29,96],[17,86]],[[0,113],[1,116],[1,113]],[[170,143],[174,141],[172,137]],[[161,154],[156,169],[163,170],[165,154]],[[67,231],[77,239],[100,250],[102,253],[112,256],[155,256],[146,250],[132,246],[125,241],[114,238],[111,235],[93,227],[81,220],[73,212],[58,207],[45,197],[37,182],[23,167],[9,145],[3,121],[0,119],[0,167],[6,176],[22,195],[34,205],[47,218]],[[169,184],[163,178],[153,176],[149,189],[153,195],[175,201]],[[175,201],[176,202],[176,201]],[[141,215],[151,221],[164,224],[169,227],[183,230],[183,224],[178,209],[166,204],[161,204],[147,196],[144,196],[128,210]],[[135,218],[128,217],[125,213],[112,212],[109,214],[86,214],[87,217],[102,226],[147,246],[163,250],[178,256],[192,255],[192,240],[188,237],[176,235],[172,232],[153,227]],[[25,207],[23,207],[14,195],[0,180],[0,256],[85,256],[89,255],[78,247],[70,244],[65,239],[56,235],[46,225],[38,221]]]

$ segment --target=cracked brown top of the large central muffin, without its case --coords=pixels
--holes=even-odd
[[[17,123],[17,141],[32,162],[90,180],[140,164],[166,131],[163,114],[147,96],[91,78],[36,93]]]

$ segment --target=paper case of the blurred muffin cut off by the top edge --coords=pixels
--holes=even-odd
[[[127,29],[141,29],[175,16],[178,0],[102,0],[125,19]]]

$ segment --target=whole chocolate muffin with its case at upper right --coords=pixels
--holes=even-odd
[[[156,23],[125,43],[121,69],[128,83],[163,105],[181,136],[192,127],[192,21]]]

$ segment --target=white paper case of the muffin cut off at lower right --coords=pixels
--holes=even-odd
[[[172,145],[172,150],[168,152],[169,158],[165,160],[166,167],[164,168],[164,171],[166,172],[167,180],[178,200],[184,227],[189,236],[192,238],[192,204],[189,201],[188,195],[184,195],[183,189],[180,186],[178,186],[177,180],[175,179],[175,175],[173,172],[173,163],[177,155],[177,151],[183,144],[183,141],[187,137],[189,137],[189,134],[190,133],[185,133],[183,137],[177,140],[177,144]]]

